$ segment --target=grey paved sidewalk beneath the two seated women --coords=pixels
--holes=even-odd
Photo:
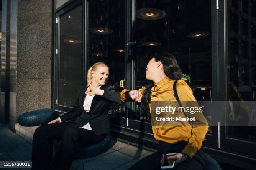
[[[16,124],[16,134],[8,128],[8,125],[0,123],[0,161],[31,161],[31,142],[35,128],[37,127],[23,127]],[[126,170],[138,160],[152,153],[151,151],[121,143],[114,139],[112,142],[115,145],[107,152],[92,158],[74,160],[70,169]],[[19,168],[6,169],[18,170]],[[20,169],[30,170],[31,168]]]

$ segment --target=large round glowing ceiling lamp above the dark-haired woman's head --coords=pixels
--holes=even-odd
[[[163,10],[155,9],[155,8],[143,8],[137,10],[137,17],[143,20],[158,20],[164,18],[165,13]]]

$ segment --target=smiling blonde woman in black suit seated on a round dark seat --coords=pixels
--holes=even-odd
[[[110,105],[123,102],[114,87],[106,85],[108,76],[105,63],[92,65],[87,73],[87,85],[78,89],[74,109],[36,129],[32,169],[69,170],[78,146],[99,143],[110,132]],[[75,117],[74,122],[66,122]],[[61,140],[61,144],[53,157],[54,140]]]

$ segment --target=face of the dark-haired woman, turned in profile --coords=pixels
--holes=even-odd
[[[156,61],[155,58],[152,58],[146,67],[146,79],[154,80],[154,77],[159,72],[159,65],[161,65],[161,61]]]

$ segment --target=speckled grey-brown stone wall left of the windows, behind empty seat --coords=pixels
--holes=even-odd
[[[51,107],[51,22],[51,0],[11,1],[11,130],[18,115]]]

